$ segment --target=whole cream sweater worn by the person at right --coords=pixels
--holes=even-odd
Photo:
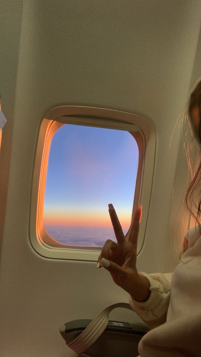
[[[195,241],[190,228],[184,245]],[[145,302],[129,297],[132,309],[151,329],[138,345],[138,357],[201,357],[201,238],[185,252],[173,273],[139,274],[149,281]]]

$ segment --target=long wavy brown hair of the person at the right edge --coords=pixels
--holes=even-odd
[[[192,109],[198,107],[199,108],[199,118],[198,118],[198,128],[199,131],[197,131],[198,128],[195,127],[195,125],[192,122]],[[195,243],[197,242],[198,238],[201,236],[201,224],[200,224],[200,214],[201,214],[201,80],[197,82],[195,85],[194,89],[191,91],[190,97],[188,99],[187,103],[187,119],[188,123],[190,124],[190,127],[192,129],[192,134],[194,139],[196,140],[198,147],[199,147],[199,155],[198,155],[198,162],[195,163],[195,173],[193,174],[191,169],[191,164],[190,164],[190,158],[188,162],[188,167],[191,170],[191,176],[192,176],[192,181],[188,185],[187,190],[186,190],[186,195],[185,195],[185,204],[190,212],[190,215],[195,218],[196,225],[198,225],[198,235],[195,239],[194,242],[192,242],[190,245],[188,245],[187,248],[185,248],[181,253],[180,253],[180,261],[181,257],[183,254],[193,247]],[[190,150],[192,149],[192,145],[190,146]],[[187,152],[186,152],[187,154]],[[188,156],[189,157],[189,152]],[[190,165],[189,165],[190,164]],[[198,167],[197,167],[198,166]],[[190,208],[191,207],[191,208]],[[192,207],[195,208],[195,212],[197,215],[195,215],[195,212],[192,211]],[[183,262],[184,263],[184,262]]]

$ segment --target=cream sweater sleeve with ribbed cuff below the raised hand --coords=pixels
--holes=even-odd
[[[139,272],[139,274],[149,281],[151,294],[148,300],[144,302],[136,301],[129,296],[129,304],[152,330],[166,322],[173,273],[146,274]]]

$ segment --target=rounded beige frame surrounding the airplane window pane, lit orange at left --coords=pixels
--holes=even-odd
[[[54,133],[64,124],[126,130],[133,135],[139,150],[132,220],[138,204],[143,215],[138,235],[137,254],[141,251],[146,231],[156,151],[156,134],[151,123],[132,113],[84,106],[59,106],[43,117],[36,145],[31,187],[29,238],[41,256],[63,260],[97,261],[100,247],[67,246],[55,241],[43,226],[43,206],[49,147]],[[129,229],[130,230],[130,229]],[[126,239],[129,237],[129,230]]]

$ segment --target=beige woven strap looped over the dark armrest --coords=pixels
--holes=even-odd
[[[80,335],[75,338],[74,341],[70,343],[66,343],[68,347],[70,347],[74,352],[78,355],[87,350],[93,343],[98,339],[100,335],[102,335],[103,331],[106,329],[109,321],[109,313],[117,308],[124,307],[128,310],[132,310],[131,306],[124,302],[118,302],[116,304],[110,305],[104,308],[93,320],[90,324],[85,328],[85,330],[80,333]]]

